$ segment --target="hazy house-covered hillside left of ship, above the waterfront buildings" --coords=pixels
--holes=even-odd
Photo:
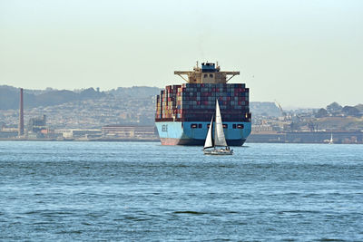
[[[19,91],[3,87],[0,100],[0,122],[16,128],[18,124]],[[91,129],[110,124],[152,125],[154,118],[153,87],[118,88],[109,92],[93,88],[81,92],[41,92],[38,95],[25,90],[25,124],[32,117],[46,116],[53,129]],[[6,99],[6,97],[8,97]],[[9,108],[10,107],[10,108]]]

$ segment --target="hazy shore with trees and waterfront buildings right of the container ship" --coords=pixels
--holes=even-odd
[[[280,117],[255,115],[250,142],[363,143],[362,104],[284,111]]]

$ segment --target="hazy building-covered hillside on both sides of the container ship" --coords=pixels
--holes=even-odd
[[[74,135],[70,133],[74,132],[79,138],[88,135],[88,138],[126,139],[136,133],[140,138],[142,131],[149,133],[147,138],[151,138],[155,95],[159,92],[156,87],[119,87],[107,92],[93,88],[24,90],[25,130],[35,138],[72,139]],[[266,134],[275,135],[272,140],[284,140],[280,134],[291,132],[363,131],[362,104],[341,106],[333,102],[320,109],[286,111],[275,102],[250,102],[250,111],[252,134],[249,140]],[[16,137],[18,123],[19,89],[0,86],[0,138]],[[154,133],[152,139],[156,138]]]

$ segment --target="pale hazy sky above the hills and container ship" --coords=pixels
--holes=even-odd
[[[251,101],[363,103],[363,1],[0,0],[0,84],[164,87],[197,60]]]

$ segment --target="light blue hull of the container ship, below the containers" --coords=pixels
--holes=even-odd
[[[210,121],[157,121],[162,145],[204,145]],[[194,128],[195,125],[197,128]],[[241,146],[250,135],[250,122],[223,121],[224,135],[229,146]],[[243,128],[237,128],[243,127]]]

